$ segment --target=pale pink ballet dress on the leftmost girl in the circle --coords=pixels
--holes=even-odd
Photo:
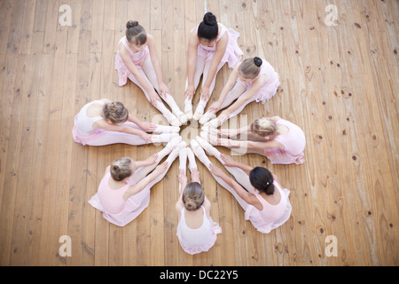
[[[102,100],[94,100],[89,104],[83,106],[79,114],[76,114],[74,116],[74,128],[72,130],[72,137],[74,138],[74,141],[76,143],[81,143],[83,146],[90,144],[90,141],[96,140],[98,139],[98,137],[106,133],[106,130],[92,129],[92,125],[94,122],[104,119],[102,116],[87,116],[87,109],[93,104],[99,104],[104,106],[106,103]]]

